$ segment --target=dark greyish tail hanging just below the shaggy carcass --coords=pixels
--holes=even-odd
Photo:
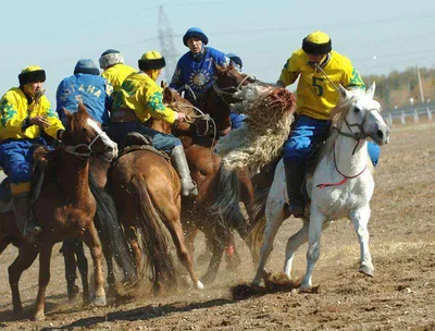
[[[247,218],[240,209],[240,183],[236,171],[219,170],[217,195],[212,209],[227,228],[246,233]]]

